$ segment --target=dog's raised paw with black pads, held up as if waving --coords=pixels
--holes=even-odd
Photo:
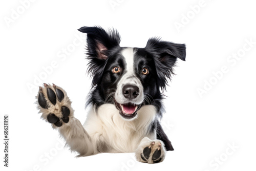
[[[39,87],[37,99],[41,118],[53,125],[60,127],[73,117],[74,111],[67,93],[55,84],[44,83],[44,87]]]

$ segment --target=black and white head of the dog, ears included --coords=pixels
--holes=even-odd
[[[87,33],[89,73],[94,88],[89,103],[98,108],[113,103],[125,119],[133,119],[143,105],[153,104],[161,115],[161,89],[174,74],[177,58],[185,60],[184,44],[151,38],[145,48],[120,47],[117,31],[82,27]]]

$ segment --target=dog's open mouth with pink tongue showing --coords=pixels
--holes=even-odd
[[[133,103],[120,104],[115,100],[116,108],[119,110],[119,114],[125,119],[132,119],[137,115],[137,111],[140,109],[140,105]]]

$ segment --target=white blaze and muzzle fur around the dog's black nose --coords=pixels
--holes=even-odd
[[[137,78],[134,71],[134,49],[125,48],[123,49],[121,54],[123,55],[124,61],[126,63],[126,66],[123,71],[125,72],[125,74],[122,76],[122,78],[117,84],[115,99],[120,104],[129,103],[129,102],[135,103],[135,104],[141,104],[143,102],[143,86],[140,80]],[[139,95],[132,100],[125,98],[123,96],[122,89],[126,85],[137,86],[139,88]]]

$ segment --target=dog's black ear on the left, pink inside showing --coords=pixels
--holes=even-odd
[[[105,60],[108,58],[106,52],[120,44],[120,36],[115,30],[107,33],[101,27],[81,27],[78,31],[87,33],[87,49],[91,57]]]

